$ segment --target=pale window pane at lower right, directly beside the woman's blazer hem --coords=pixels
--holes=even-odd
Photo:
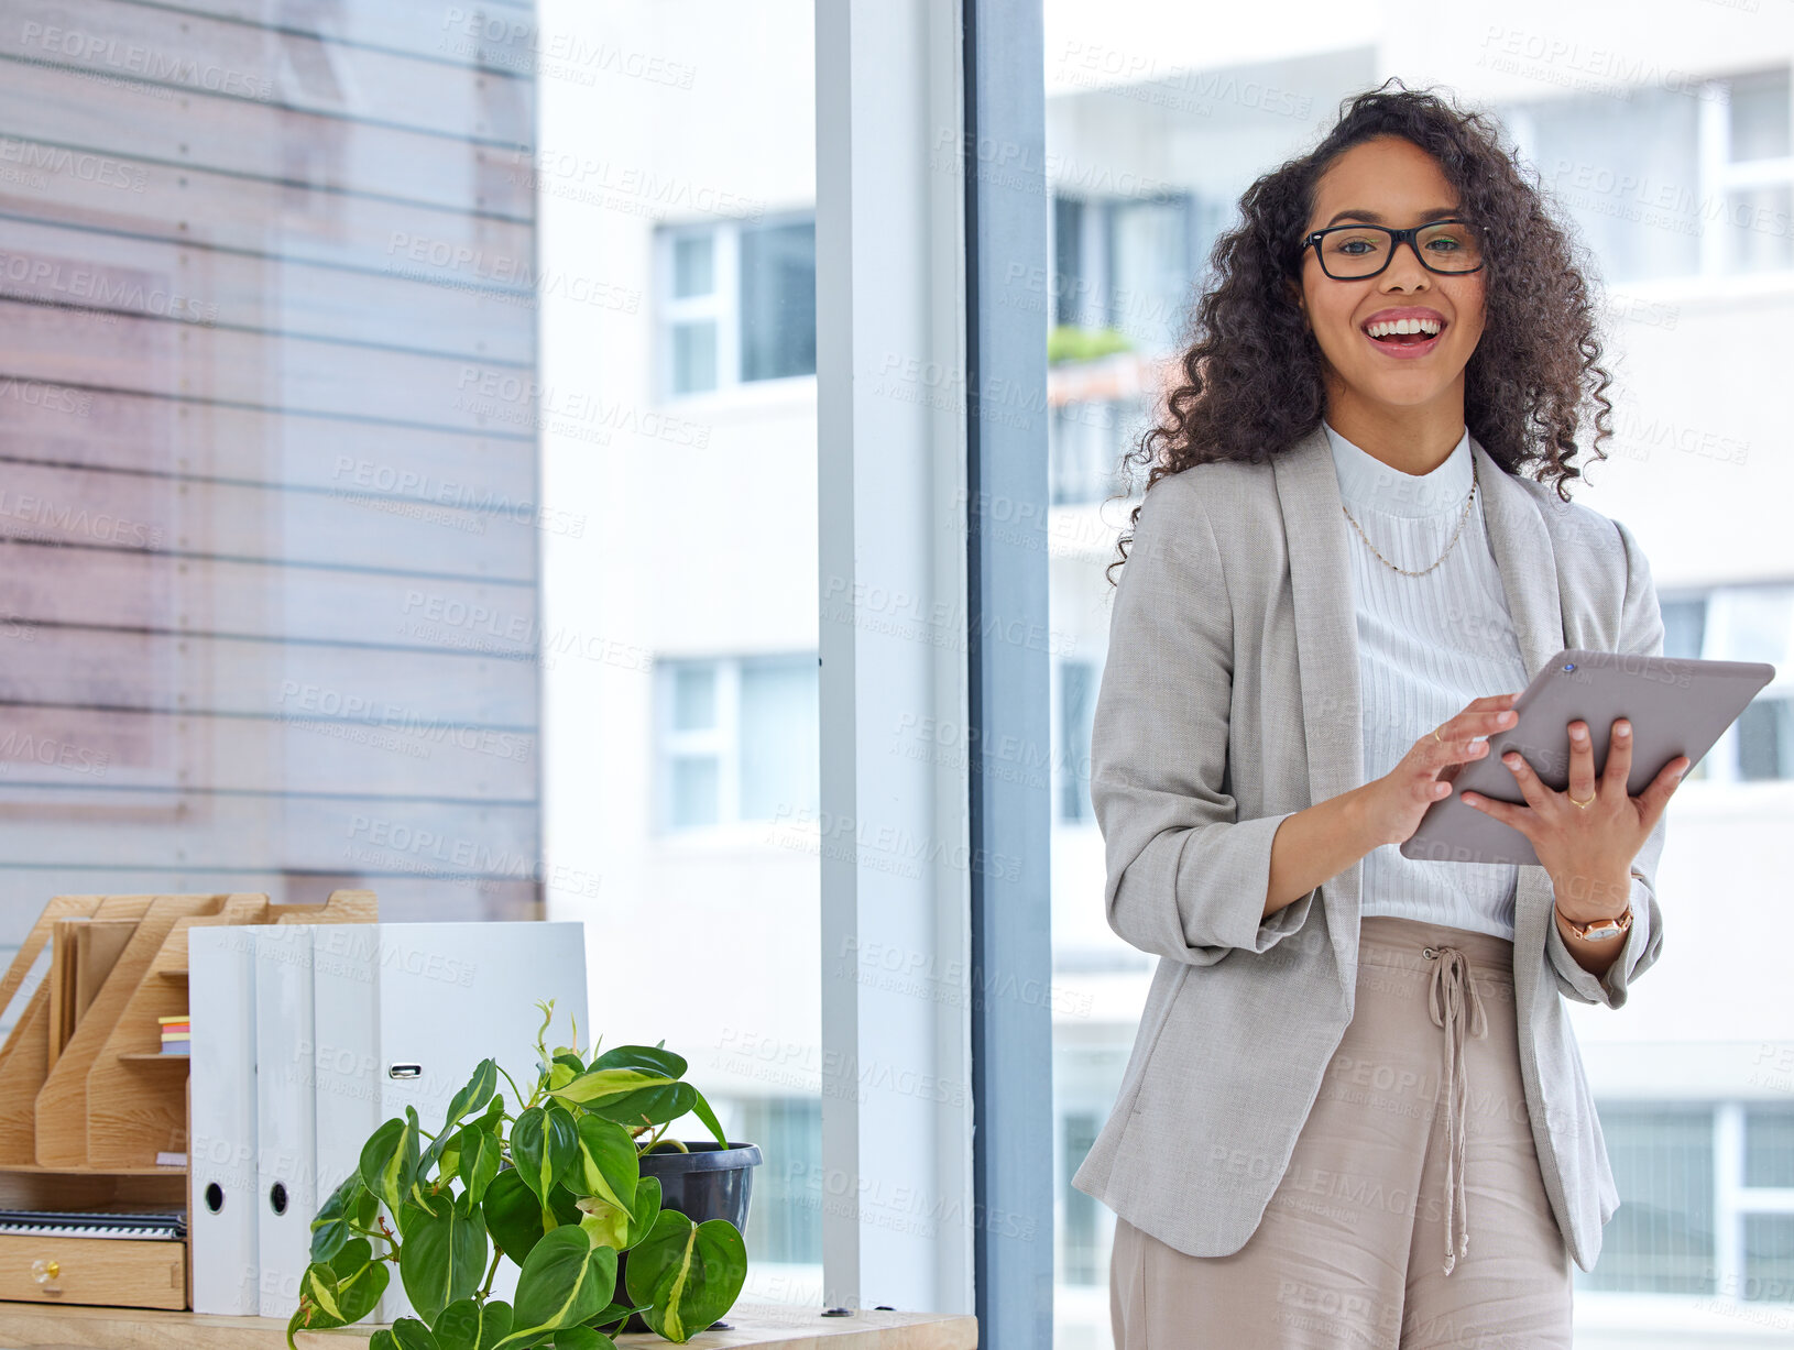
[[[1620,1208],[1577,1289],[1715,1293],[1713,1112],[1607,1103],[1600,1108]]]

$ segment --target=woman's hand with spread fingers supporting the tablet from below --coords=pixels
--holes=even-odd
[[[1633,771],[1633,728],[1624,717],[1613,723],[1607,739],[1607,764],[1595,783],[1595,746],[1588,723],[1570,723],[1570,787],[1559,792],[1546,785],[1520,751],[1509,749],[1502,764],[1520,783],[1527,805],[1496,801],[1480,792],[1459,798],[1503,825],[1512,825],[1532,843],[1539,864],[1550,873],[1557,907],[1564,918],[1586,922],[1625,913],[1631,893],[1633,859],[1668,807],[1670,792],[1688,771],[1686,755],[1677,755],[1636,798],[1627,796],[1625,780]],[[1575,805],[1575,803],[1584,805]]]

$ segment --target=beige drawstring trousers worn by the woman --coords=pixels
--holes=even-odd
[[[1351,1025],[1247,1244],[1191,1257],[1116,1219],[1116,1350],[1568,1350],[1512,954],[1363,918]]]

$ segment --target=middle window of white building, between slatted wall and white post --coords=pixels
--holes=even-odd
[[[816,656],[662,662],[662,830],[818,810]]]

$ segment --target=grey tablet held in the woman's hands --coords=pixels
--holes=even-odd
[[[1489,737],[1489,753],[1439,775],[1451,792],[1426,809],[1401,844],[1401,855],[1433,862],[1527,862],[1532,841],[1520,830],[1466,805],[1459,792],[1527,805],[1502,755],[1518,749],[1555,791],[1570,782],[1570,723],[1588,723],[1595,778],[1607,764],[1615,717],[1633,724],[1633,769],[1625,791],[1638,796],[1677,755],[1692,769],[1713,748],[1756,692],[1776,678],[1767,662],[1690,662],[1615,651],[1557,653],[1514,699],[1520,721]],[[1686,782],[1686,778],[1683,778]]]

